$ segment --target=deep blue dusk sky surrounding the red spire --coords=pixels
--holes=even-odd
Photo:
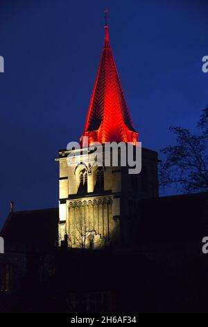
[[[77,141],[110,43],[139,141],[160,150],[208,103],[208,1],[1,0],[0,225],[9,210],[58,206],[58,150]]]

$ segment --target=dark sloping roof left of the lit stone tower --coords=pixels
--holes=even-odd
[[[10,212],[1,230],[6,250],[44,249],[58,240],[58,208]]]

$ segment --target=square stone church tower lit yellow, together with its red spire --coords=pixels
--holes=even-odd
[[[87,143],[85,138],[87,137]],[[91,164],[96,142],[137,145],[135,131],[110,48],[108,26],[80,147],[60,150],[59,238],[72,248],[103,248],[125,239],[130,215],[141,197],[157,196],[157,153],[142,150],[141,174],[121,164]],[[104,153],[104,156],[106,153]],[[68,158],[71,157],[69,164]],[[145,166],[144,166],[145,165]]]

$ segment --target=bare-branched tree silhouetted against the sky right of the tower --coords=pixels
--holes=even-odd
[[[185,193],[208,191],[208,106],[202,110],[197,128],[199,133],[195,135],[189,129],[170,127],[177,142],[162,150],[161,186],[175,184]]]

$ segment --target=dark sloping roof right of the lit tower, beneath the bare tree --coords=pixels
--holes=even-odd
[[[208,235],[208,193],[144,199],[138,205],[142,242],[201,242]]]

